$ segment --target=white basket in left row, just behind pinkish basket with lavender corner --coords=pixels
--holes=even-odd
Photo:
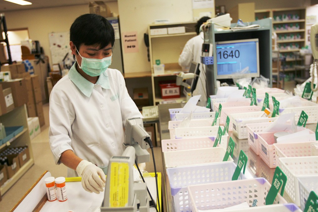
[[[222,131],[224,126],[213,127],[178,127],[176,128],[176,139],[181,138],[197,138],[197,137],[216,137],[218,135],[218,128],[221,127]],[[227,142],[229,134],[225,132],[221,137],[221,144]]]

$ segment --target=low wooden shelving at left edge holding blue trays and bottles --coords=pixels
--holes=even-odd
[[[0,116],[0,122],[4,124],[5,127],[13,127],[13,126],[23,126],[23,131],[14,136],[10,141],[0,146],[0,151],[3,148],[10,147],[20,147],[20,146],[28,146],[30,159],[27,161],[18,171],[14,174],[10,179],[8,179],[1,187],[0,192],[3,195],[7,192],[13,185],[16,183],[26,172],[33,166],[33,152],[31,147],[31,139],[28,130],[28,122],[26,116],[26,109],[23,106],[16,107],[12,111],[3,114]]]

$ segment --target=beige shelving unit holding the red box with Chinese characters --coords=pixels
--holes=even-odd
[[[196,36],[195,32],[196,22],[172,23],[172,24],[153,24],[148,27],[149,34],[149,55],[151,66],[151,84],[153,94],[153,105],[157,105],[164,100],[175,100],[181,102],[185,100],[181,87],[180,98],[175,99],[162,99],[160,94],[159,83],[164,81],[175,82],[176,75],[182,69],[178,65],[178,59],[181,51],[183,50],[186,42]],[[151,30],[170,28],[170,27],[185,27],[185,33],[178,34],[164,34],[164,35],[151,35]],[[161,64],[165,65],[165,72],[163,74],[155,74],[153,65],[156,65],[156,60],[159,59]]]

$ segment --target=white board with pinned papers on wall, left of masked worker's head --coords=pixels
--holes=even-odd
[[[63,65],[71,66],[74,60],[70,48],[70,32],[50,33],[49,41],[52,64],[61,64],[64,60]]]

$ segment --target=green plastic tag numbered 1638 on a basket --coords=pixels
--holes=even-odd
[[[286,181],[287,181],[286,174],[284,174],[284,172],[282,172],[279,167],[276,167],[274,176],[273,176],[272,186],[269,189],[268,194],[265,198],[265,205],[273,204],[280,188],[281,188],[280,195],[281,196],[284,195]]]

